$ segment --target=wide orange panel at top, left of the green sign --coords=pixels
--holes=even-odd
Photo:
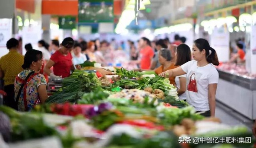
[[[78,0],[42,0],[42,14],[77,16]]]

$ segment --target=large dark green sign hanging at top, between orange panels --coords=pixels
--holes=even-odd
[[[78,0],[79,23],[114,23],[114,0]]]

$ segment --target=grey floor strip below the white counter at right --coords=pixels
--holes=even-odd
[[[220,118],[220,120],[227,125],[236,126],[236,125],[246,125],[251,129],[253,121],[237,114],[230,108],[227,108],[225,105],[216,103],[215,116]]]

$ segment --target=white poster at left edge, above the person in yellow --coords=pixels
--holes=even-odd
[[[0,47],[6,47],[6,42],[12,38],[12,19],[0,19]]]

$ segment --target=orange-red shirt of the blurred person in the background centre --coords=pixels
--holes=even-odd
[[[151,58],[154,57],[154,51],[150,46],[145,47],[140,51],[141,54],[141,69],[148,70],[151,65]]]

